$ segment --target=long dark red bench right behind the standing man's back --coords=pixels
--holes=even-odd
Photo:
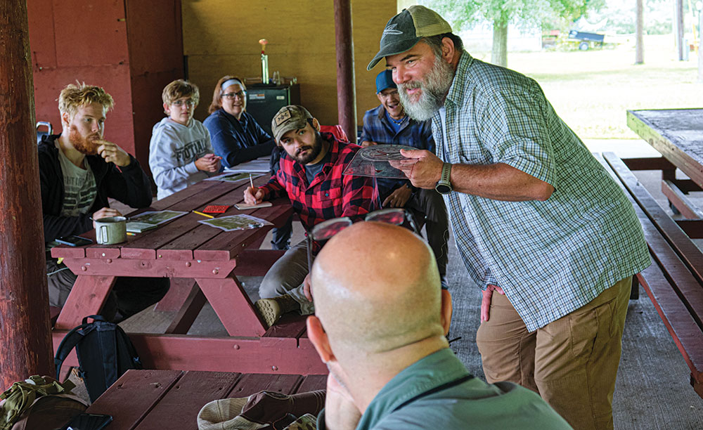
[[[703,397],[703,252],[691,240],[703,237],[703,220],[674,221],[628,168],[628,159],[612,152],[599,159],[633,203],[652,254],[652,266],[637,280],[688,364],[691,385]],[[631,166],[656,169],[657,160],[635,159]]]

